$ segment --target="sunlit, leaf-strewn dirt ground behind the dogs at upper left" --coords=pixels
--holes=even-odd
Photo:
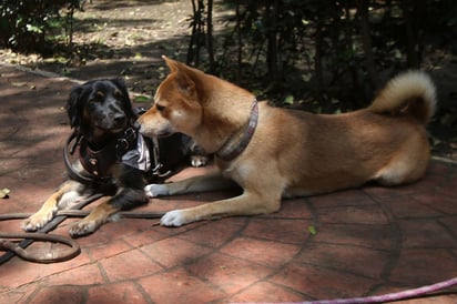
[[[183,0],[87,1],[74,14],[71,60],[9,50],[0,59],[79,80],[122,77],[131,90],[151,94],[166,72],[161,55],[185,58],[191,14],[192,2]]]

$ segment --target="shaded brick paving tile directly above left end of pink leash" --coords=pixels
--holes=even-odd
[[[372,278],[298,263],[286,265],[268,281],[313,300],[362,296],[376,283]]]

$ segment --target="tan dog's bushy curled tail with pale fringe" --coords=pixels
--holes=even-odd
[[[436,89],[424,72],[409,71],[392,79],[368,110],[378,114],[413,115],[427,123],[436,108]]]

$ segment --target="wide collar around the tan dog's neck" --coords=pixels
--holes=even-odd
[[[225,162],[230,162],[236,159],[251,142],[251,139],[254,135],[255,129],[257,126],[257,120],[258,104],[257,100],[254,99],[251,105],[250,120],[247,121],[246,125],[240,132],[230,136],[230,139],[215,153],[215,155]]]

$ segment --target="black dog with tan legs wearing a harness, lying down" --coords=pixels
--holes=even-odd
[[[39,230],[75,200],[94,193],[113,195],[70,227],[72,236],[92,233],[119,211],[146,203],[145,183],[163,181],[165,174],[161,172],[181,169],[195,150],[192,140],[182,134],[152,142],[136,132],[138,113],[119,79],[74,87],[67,111],[74,131],[64,153],[69,179],[22,222],[26,231]],[[70,153],[79,150],[75,162],[69,161],[71,144]]]

